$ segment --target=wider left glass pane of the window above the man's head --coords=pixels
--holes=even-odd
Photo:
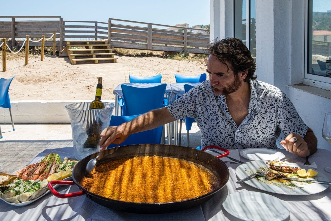
[[[246,0],[234,1],[234,37],[241,39],[246,45],[246,23],[247,23]]]

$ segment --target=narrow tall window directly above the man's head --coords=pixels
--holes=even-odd
[[[246,44],[254,59],[256,59],[255,20],[255,0],[234,0],[234,37]],[[249,25],[247,21],[250,21]]]

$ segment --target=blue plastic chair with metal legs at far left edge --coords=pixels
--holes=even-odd
[[[14,75],[14,77],[15,76],[16,75]],[[11,111],[12,106],[10,104],[8,91],[9,91],[10,83],[12,83],[14,77],[10,79],[5,79],[5,78],[0,79],[0,107],[9,108],[9,114],[10,114],[10,119],[12,120],[13,130],[15,130],[15,128],[14,128],[13,116]],[[1,125],[0,125],[0,138],[2,138]]]

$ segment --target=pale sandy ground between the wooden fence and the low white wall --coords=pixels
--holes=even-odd
[[[177,61],[160,57],[116,56],[117,63],[72,65],[68,57],[40,56],[7,60],[7,71],[1,77],[13,79],[9,88],[11,101],[19,100],[93,100],[97,78],[103,77],[102,100],[114,100],[113,89],[129,82],[129,75],[149,77],[162,74],[162,83],[175,83],[175,73],[206,73],[199,61]]]

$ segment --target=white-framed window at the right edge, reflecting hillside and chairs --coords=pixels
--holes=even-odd
[[[330,0],[306,1],[306,68],[304,83],[331,90],[331,3]]]

